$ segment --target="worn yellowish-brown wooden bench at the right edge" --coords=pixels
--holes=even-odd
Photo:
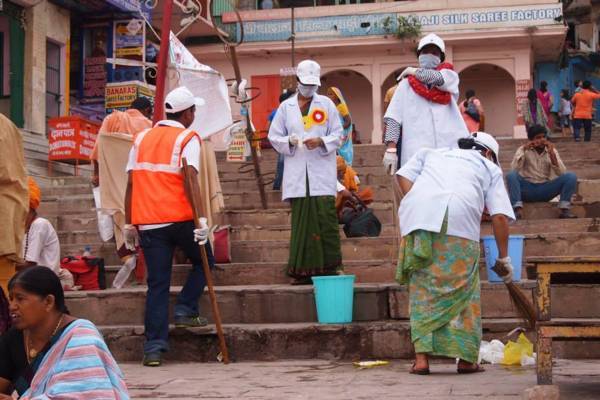
[[[553,274],[591,274],[600,272],[600,257],[536,257],[537,288],[537,382],[552,384],[552,342],[554,340],[600,340],[600,320],[553,319],[550,280]],[[585,275],[583,275],[585,276]],[[581,283],[585,283],[582,279]]]

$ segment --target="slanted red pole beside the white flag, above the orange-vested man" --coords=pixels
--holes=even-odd
[[[154,96],[154,123],[157,123],[164,118],[167,62],[169,59],[169,43],[171,42],[171,16],[173,15],[173,0],[163,1],[163,20],[160,28],[160,51],[158,52],[158,71],[156,73],[156,95]]]

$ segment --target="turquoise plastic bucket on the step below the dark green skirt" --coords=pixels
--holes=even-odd
[[[352,322],[354,275],[314,276],[315,303],[320,324]]]

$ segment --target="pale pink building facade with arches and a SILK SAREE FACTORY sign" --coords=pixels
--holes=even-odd
[[[461,78],[461,97],[467,89],[476,91],[486,110],[486,130],[497,136],[524,135],[519,104],[534,82],[534,65],[558,60],[567,31],[562,5],[552,0],[481,0],[476,7],[464,0],[298,7],[292,54],[292,10],[247,3],[239,13],[243,44],[237,53],[243,75],[261,90],[252,103],[255,125],[266,127],[263,119],[277,106],[282,75],[312,58],[322,66],[321,90],[337,86],[346,97],[363,143],[381,142],[384,95],[395,75],[417,62],[418,38],[396,37],[398,17],[418,21],[422,33],[442,36],[446,60]],[[241,39],[236,14],[225,11],[220,18]],[[190,48],[202,62],[233,76],[222,45]]]

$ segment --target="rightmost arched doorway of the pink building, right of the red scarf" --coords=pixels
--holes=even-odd
[[[475,64],[460,72],[460,101],[475,90],[485,111],[485,130],[494,136],[513,136],[517,120],[514,78],[502,67]]]

